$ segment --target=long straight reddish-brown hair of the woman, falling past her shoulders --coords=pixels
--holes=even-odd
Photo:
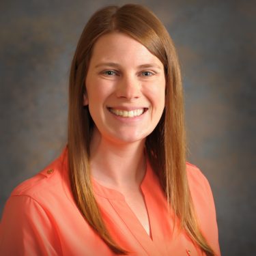
[[[114,31],[134,38],[163,63],[165,110],[146,139],[147,156],[160,179],[171,210],[179,220],[180,229],[184,229],[206,255],[212,256],[214,251],[199,229],[188,188],[182,79],[175,47],[160,20],[141,5],[108,6],[98,10],[85,26],[74,54],[69,87],[68,162],[76,204],[85,220],[113,253],[128,253],[111,238],[94,197],[89,165],[94,122],[88,108],[83,106],[85,78],[94,44],[101,35]]]

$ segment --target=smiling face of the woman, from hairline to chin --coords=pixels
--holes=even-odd
[[[162,62],[124,33],[102,35],[94,44],[85,79],[84,104],[102,139],[141,141],[165,107]]]

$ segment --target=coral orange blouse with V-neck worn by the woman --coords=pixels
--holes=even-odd
[[[114,255],[76,208],[66,152],[12,192],[1,221],[1,255]],[[217,255],[221,255],[208,181],[193,165],[188,164],[187,171],[201,230]],[[150,219],[151,237],[121,193],[96,181],[93,183],[106,226],[115,241],[130,252],[129,255],[203,255],[186,233],[173,234],[166,197],[148,162],[141,191]]]

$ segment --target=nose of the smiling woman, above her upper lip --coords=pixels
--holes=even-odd
[[[117,98],[128,100],[136,99],[141,96],[141,83],[136,76],[123,76],[119,80],[116,90]]]

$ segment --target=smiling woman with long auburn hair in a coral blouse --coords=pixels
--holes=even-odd
[[[210,186],[186,164],[173,42],[141,5],[91,17],[70,72],[68,146],[5,205],[3,255],[220,255]]]

